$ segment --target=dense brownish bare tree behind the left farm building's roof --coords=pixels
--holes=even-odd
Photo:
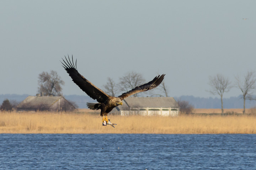
[[[38,92],[43,95],[61,96],[64,81],[59,77],[56,71],[51,70],[50,73],[42,72],[38,75]]]

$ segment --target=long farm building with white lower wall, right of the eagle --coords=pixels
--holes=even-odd
[[[115,107],[110,113],[119,115],[161,115],[177,116],[178,103],[173,97],[128,97],[123,105]]]

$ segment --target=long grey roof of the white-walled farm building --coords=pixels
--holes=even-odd
[[[178,104],[173,97],[128,97],[123,100],[122,107],[133,107],[133,108],[178,108]]]

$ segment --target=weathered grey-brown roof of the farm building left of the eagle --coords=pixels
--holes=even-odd
[[[18,108],[34,108],[39,105],[49,108],[55,102],[58,102],[59,99],[63,98],[62,96],[28,96],[20,104]]]

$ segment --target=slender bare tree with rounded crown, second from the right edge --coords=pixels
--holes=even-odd
[[[215,77],[209,77],[209,85],[212,87],[209,91],[211,94],[220,95],[223,115],[223,94],[232,88],[231,82],[229,81],[229,78],[226,78],[221,74],[217,74]]]

